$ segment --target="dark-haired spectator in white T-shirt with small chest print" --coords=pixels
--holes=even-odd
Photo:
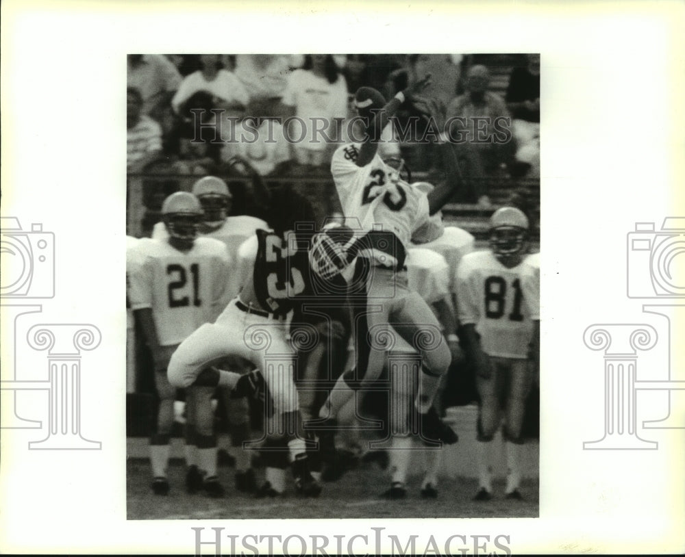
[[[290,75],[282,102],[290,107],[291,114],[303,120],[303,124],[286,129],[294,140],[292,147],[297,163],[308,168],[327,164],[326,155],[331,149],[325,138],[337,140],[338,125],[334,118],[342,121],[347,116],[347,82],[332,55],[306,56],[302,69]],[[314,118],[325,118],[325,121]],[[315,125],[322,133],[315,133]],[[304,130],[298,129],[301,126]]]

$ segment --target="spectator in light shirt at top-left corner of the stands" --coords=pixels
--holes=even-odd
[[[126,85],[140,92],[142,114],[166,123],[169,101],[181,84],[181,75],[176,66],[158,54],[129,54],[127,62]]]

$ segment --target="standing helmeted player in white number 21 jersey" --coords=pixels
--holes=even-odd
[[[152,489],[158,495],[169,493],[166,467],[175,398],[166,368],[177,346],[201,324],[216,318],[227,285],[228,252],[219,240],[198,237],[202,214],[199,201],[188,192],[167,197],[162,204],[167,239],[140,239],[135,257],[130,258],[131,307],[152,352],[160,399],[150,441]],[[216,477],[211,398],[212,389],[186,391],[186,487],[219,497],[223,487]]]

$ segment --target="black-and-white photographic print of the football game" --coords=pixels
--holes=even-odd
[[[128,517],[537,516],[540,55],[127,72]]]

